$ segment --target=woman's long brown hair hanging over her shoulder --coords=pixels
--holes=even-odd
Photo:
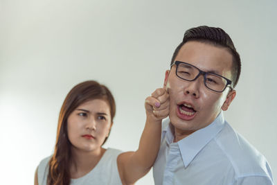
[[[96,81],[89,80],[73,87],[69,91],[69,94],[67,94],[60,110],[55,150],[49,161],[48,185],[70,184],[69,164],[71,159],[71,143],[67,133],[67,118],[79,105],[94,99],[107,100],[111,111],[111,122],[113,121],[114,115],[116,114],[116,104],[111,91],[105,85],[100,85]]]

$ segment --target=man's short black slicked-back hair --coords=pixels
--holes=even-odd
[[[186,30],[183,41],[181,42],[181,44],[179,44],[179,46],[177,46],[177,49],[175,49],[175,52],[172,56],[171,64],[175,62],[175,58],[177,57],[179,50],[181,49],[181,46],[186,44],[186,42],[188,41],[198,41],[207,44],[212,44],[214,46],[221,46],[228,49],[231,55],[233,56],[231,80],[233,82],[233,87],[237,85],[238,79],[240,78],[240,55],[236,51],[231,37],[229,37],[229,35],[224,30],[222,30],[222,28],[199,26],[196,28],[190,28],[189,30]]]

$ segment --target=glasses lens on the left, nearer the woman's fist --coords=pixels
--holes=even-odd
[[[193,66],[180,63],[177,67],[177,76],[184,80],[193,80],[198,75],[199,71]]]

